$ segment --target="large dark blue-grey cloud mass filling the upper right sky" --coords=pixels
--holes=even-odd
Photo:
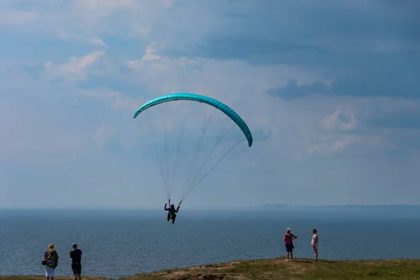
[[[182,1],[172,12],[184,18],[154,30],[162,55],[297,64],[334,80],[269,94],[420,97],[418,1]]]

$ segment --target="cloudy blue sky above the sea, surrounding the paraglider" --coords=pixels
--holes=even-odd
[[[409,0],[3,0],[0,207],[163,207],[133,114],[175,92],[228,104],[254,139],[183,207],[419,204],[419,13]]]

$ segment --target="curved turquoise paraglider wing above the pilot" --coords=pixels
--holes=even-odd
[[[195,102],[200,102],[200,103],[206,103],[211,106],[214,106],[215,108],[225,113],[225,115],[227,115],[231,120],[233,120],[237,124],[237,126],[242,130],[242,132],[244,132],[244,135],[246,139],[248,140],[248,146],[249,147],[252,146],[252,143],[253,143],[252,134],[248,128],[248,125],[246,125],[244,120],[242,120],[242,118],[235,111],[230,109],[228,105],[225,105],[222,102],[216,99],[213,99],[211,97],[206,97],[200,94],[180,92],[180,93],[167,94],[161,97],[157,97],[147,102],[146,104],[141,106],[139,109],[137,109],[136,113],[134,113],[134,118],[137,118],[137,116],[139,116],[139,113],[150,108],[151,106],[155,106],[155,105],[165,103],[165,102],[172,102],[175,100],[189,100],[189,101],[195,101]]]

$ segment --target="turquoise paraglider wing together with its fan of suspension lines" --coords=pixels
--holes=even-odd
[[[193,106],[192,109],[175,109],[174,106],[171,107],[171,105],[176,103],[175,101],[191,101],[192,103],[197,102],[200,104],[204,104],[207,107],[203,108],[202,106]],[[164,104],[166,106],[163,106]],[[151,107],[153,106],[155,106],[155,108],[159,108],[160,110],[151,109]],[[213,108],[213,110],[211,110],[211,108]],[[202,130],[198,130],[197,127],[190,127],[188,139],[187,141],[183,141],[183,135],[185,134],[184,132],[186,130],[186,120],[187,123],[197,123],[197,120],[199,119],[197,118],[197,113],[190,114],[190,110],[197,110],[198,112],[203,113],[205,120],[203,123]],[[166,94],[143,104],[134,113],[134,118],[137,118],[140,114],[143,115],[144,113],[146,113],[146,115],[150,117],[150,115],[152,114],[151,111],[153,111],[155,115],[151,118],[148,118],[148,122],[146,121],[145,117],[141,118],[142,120],[139,121],[139,126],[144,132],[146,132],[146,130],[148,129],[149,131],[146,132],[146,136],[153,138],[153,146],[155,151],[154,158],[158,160],[160,166],[162,180],[167,190],[169,205],[172,187],[174,186],[174,177],[176,174],[180,173],[177,172],[177,169],[179,168],[179,166],[181,166],[179,165],[179,156],[187,157],[189,155],[187,151],[183,151],[181,153],[181,144],[185,144],[185,142],[187,142],[186,146],[191,147],[194,145],[191,145],[190,142],[192,142],[194,139],[197,139],[198,141],[198,143],[195,145],[196,149],[195,153],[193,154],[193,158],[190,160],[184,158],[183,163],[188,163],[189,167],[186,169],[186,172],[182,172],[181,174],[179,174],[180,176],[186,175],[186,183],[184,183],[183,195],[179,204],[181,204],[181,202],[191,193],[191,191],[195,187],[197,187],[228,154],[232,153],[234,148],[236,148],[237,146],[239,146],[239,144],[242,144],[244,142],[248,144],[248,147],[251,147],[253,144],[251,130],[249,130],[248,125],[246,125],[246,123],[239,116],[239,114],[233,111],[228,105],[223,104],[222,102],[211,97],[206,97],[200,94],[193,94],[188,92]],[[176,113],[172,114],[171,112]],[[206,116],[208,113],[210,113],[211,116]],[[176,122],[176,120],[178,120],[177,117],[179,116],[184,116],[184,120],[181,122],[181,125],[179,125],[179,123]],[[216,132],[214,132],[213,135],[207,137],[209,141],[211,141],[212,139],[216,139],[216,143],[214,143],[214,145],[205,145],[204,135],[206,133],[209,133],[210,123],[215,118],[221,119],[221,123],[224,122],[225,125],[216,125]],[[226,131],[225,128],[227,123],[229,123],[229,120],[232,126],[230,127],[230,130]],[[202,132],[201,134],[198,133],[200,131]],[[157,136],[156,134],[158,134],[158,132],[161,132],[163,135]],[[232,133],[235,132],[237,137],[232,135]],[[159,153],[160,145],[158,145],[158,142],[162,142],[163,144],[162,153]],[[174,143],[178,143],[178,145],[176,146],[176,148],[170,151],[168,146]],[[223,145],[224,147],[221,147]],[[228,148],[226,148],[226,146],[228,146]],[[225,150],[217,151],[216,148],[225,148]],[[209,155],[207,155],[204,158],[201,164],[199,161],[197,161],[197,158],[199,158],[200,155],[205,155],[206,153],[200,153],[200,149],[209,150]],[[239,153],[241,153],[242,151],[244,151],[244,148],[242,148]],[[239,153],[236,153],[236,155],[238,155]],[[211,163],[212,155],[216,155],[216,157],[218,158],[218,160],[216,160],[213,163]],[[172,160],[175,161],[173,165],[170,164]],[[172,171],[172,176],[170,175],[171,170],[169,166],[174,167],[174,170]],[[204,167],[208,167],[207,172],[204,172]],[[190,181],[192,174],[195,175],[193,175],[193,180]]]

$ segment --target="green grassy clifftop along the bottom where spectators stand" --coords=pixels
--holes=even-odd
[[[41,280],[45,276],[0,276],[0,280]],[[56,277],[57,280],[73,279]],[[106,280],[100,277],[83,277],[85,280]],[[137,274],[121,280],[362,280],[362,279],[420,279],[420,260],[314,260],[295,259],[285,262],[284,258],[265,260],[242,260],[169,269],[160,272]]]

